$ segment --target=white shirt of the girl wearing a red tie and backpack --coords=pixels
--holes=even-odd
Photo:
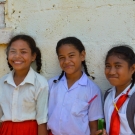
[[[116,89],[113,87],[110,89],[110,93],[105,99],[104,103],[104,115],[105,115],[105,120],[106,120],[106,131],[109,134],[110,130],[110,121],[111,121],[111,115],[114,110],[114,103],[117,102],[119,97],[123,94],[126,94],[127,90],[130,88],[130,85],[120,94],[115,98],[115,93]],[[135,92],[135,86],[129,91],[128,96],[130,97],[133,93]],[[127,104],[130,98],[127,98],[124,104],[121,106],[121,108],[118,110],[118,115],[120,118],[120,134],[119,135],[134,135],[133,132],[131,131],[127,117],[126,117],[126,110],[127,110]],[[135,117],[134,117],[134,123],[135,123]]]

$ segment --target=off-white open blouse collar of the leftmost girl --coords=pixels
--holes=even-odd
[[[8,84],[11,84],[13,86],[16,86],[14,83],[14,79],[13,79],[13,75],[14,75],[14,70],[11,71],[7,78],[5,79],[4,82],[7,82]],[[34,81],[35,81],[35,72],[34,70],[30,67],[30,70],[28,72],[28,74],[26,75],[25,79],[23,80],[23,82],[21,82],[20,85],[24,85],[25,83],[30,83],[34,85]]]

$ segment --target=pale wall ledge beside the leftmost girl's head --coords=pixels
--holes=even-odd
[[[2,28],[0,29],[0,44],[7,44],[11,39],[13,34],[12,28]]]

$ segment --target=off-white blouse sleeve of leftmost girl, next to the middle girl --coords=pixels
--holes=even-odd
[[[46,123],[48,118],[48,86],[41,88],[40,92],[37,97],[37,104],[36,104],[36,120],[38,125],[42,123]]]

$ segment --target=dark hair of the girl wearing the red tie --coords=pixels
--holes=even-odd
[[[128,45],[120,45],[110,49],[106,55],[105,62],[107,61],[108,57],[112,55],[115,55],[118,58],[125,60],[128,63],[129,67],[135,64],[135,53],[133,49]],[[134,86],[134,83],[135,83],[135,72],[132,75],[132,84],[130,86],[130,89]]]

